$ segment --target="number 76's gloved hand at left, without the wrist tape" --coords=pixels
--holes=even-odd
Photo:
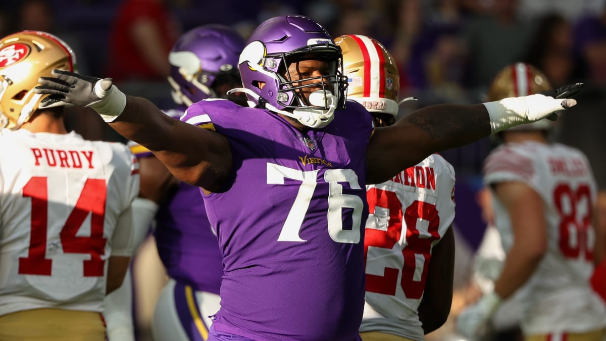
[[[38,82],[42,85],[34,88],[35,93],[50,95],[42,100],[41,108],[58,102],[91,106],[103,100],[113,83],[112,78],[101,79],[59,69],[52,70],[51,74],[55,77],[40,77]]]

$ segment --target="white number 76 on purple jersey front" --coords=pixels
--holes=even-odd
[[[284,184],[284,178],[299,180],[301,186],[284,221],[278,241],[305,241],[299,237],[299,231],[318,183],[318,170],[298,170],[267,163],[268,184]],[[324,172],[324,181],[329,185],[328,234],[338,243],[359,243],[364,201],[357,195],[343,194],[343,186],[340,184],[346,182],[351,189],[361,189],[358,175],[351,169],[327,169]],[[350,230],[343,229],[343,208],[353,209]]]

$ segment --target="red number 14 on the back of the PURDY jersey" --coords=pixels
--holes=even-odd
[[[105,180],[87,179],[75,208],[65,221],[59,237],[63,252],[90,254],[84,261],[84,277],[101,277],[105,252],[103,225],[105,220]],[[32,198],[32,231],[27,257],[19,258],[19,274],[50,276],[53,260],[46,258],[48,228],[48,186],[46,177],[32,177],[23,187],[23,196]],[[90,237],[76,235],[91,213]]]

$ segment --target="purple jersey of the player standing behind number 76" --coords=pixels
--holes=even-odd
[[[183,112],[165,113],[178,119]],[[153,156],[143,146],[129,145],[138,158]],[[221,252],[198,187],[179,183],[158,209],[154,235],[168,276],[196,291],[219,294],[223,275]]]

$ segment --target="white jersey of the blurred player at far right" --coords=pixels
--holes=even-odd
[[[520,181],[545,204],[548,249],[520,288],[525,334],[585,332],[606,325],[603,303],[591,290],[595,235],[590,226],[596,183],[585,155],[562,144],[504,144],[484,164],[487,185]],[[493,195],[495,225],[505,252],[513,245],[507,210]]]

